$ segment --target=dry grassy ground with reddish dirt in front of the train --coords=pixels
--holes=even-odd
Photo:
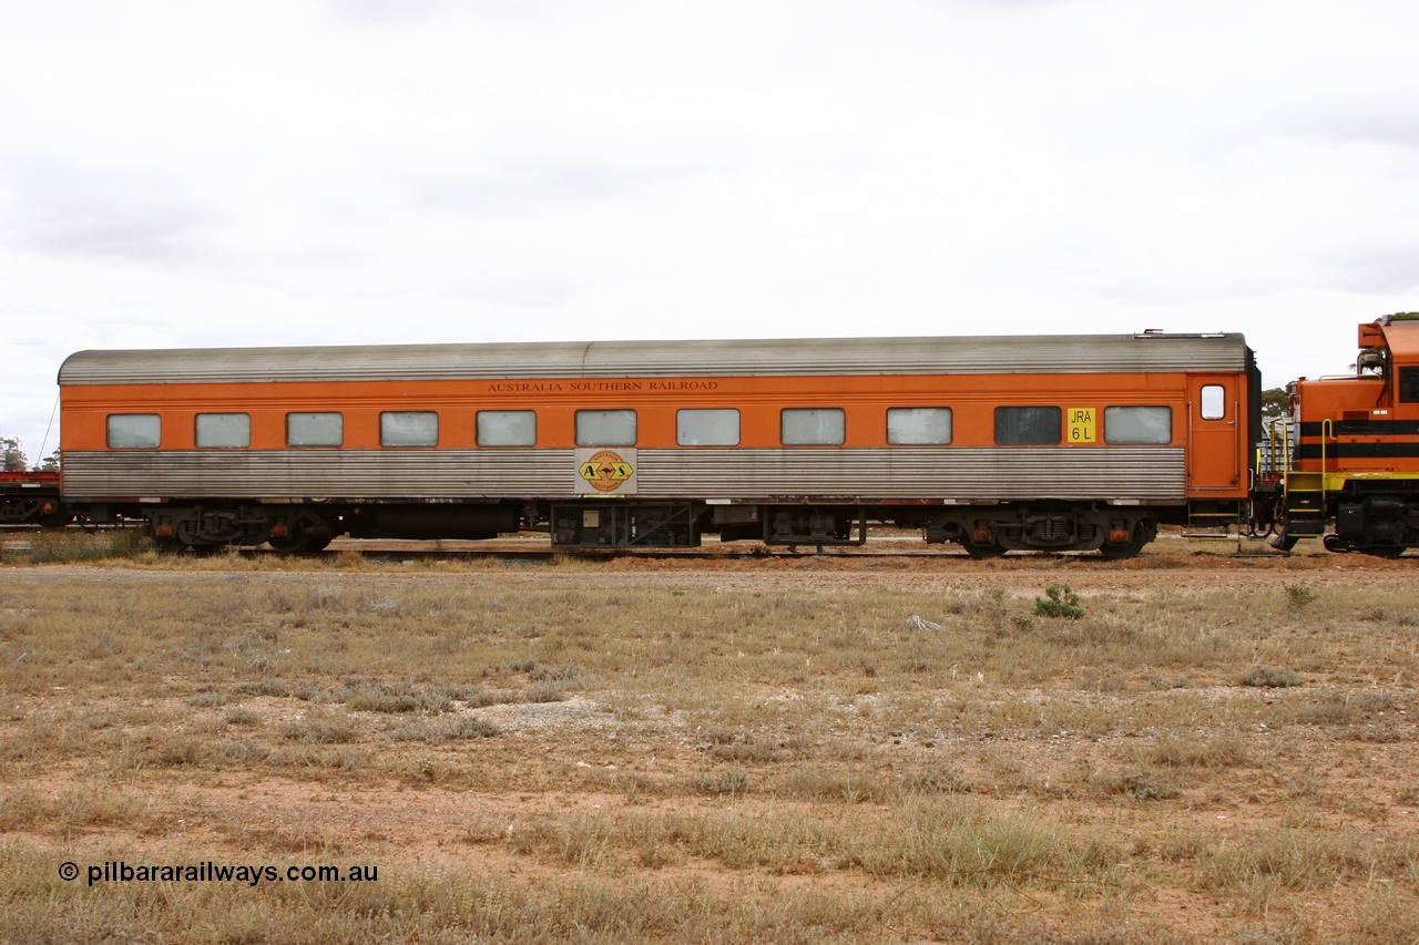
[[[263,560],[0,569],[0,939],[1419,936],[1408,583]]]

